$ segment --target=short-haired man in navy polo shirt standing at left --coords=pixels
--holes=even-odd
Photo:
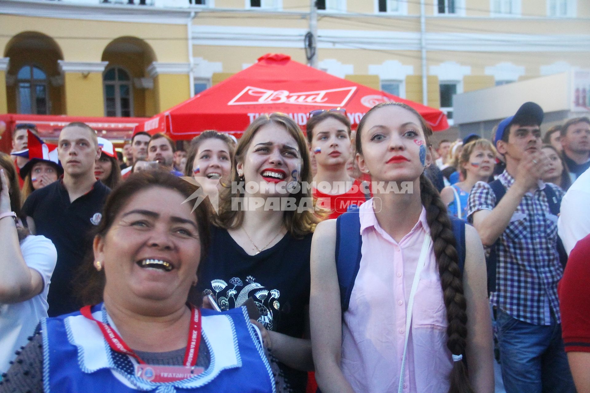
[[[70,123],[61,130],[58,157],[64,175],[34,191],[22,207],[31,232],[51,239],[57,264],[47,302],[49,316],[80,308],[72,279],[90,249],[90,232],[100,223],[109,187],[94,178],[94,161],[100,157],[96,133],[84,123]]]

